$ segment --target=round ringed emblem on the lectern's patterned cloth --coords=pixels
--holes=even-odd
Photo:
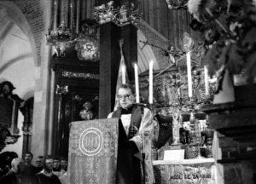
[[[102,150],[102,131],[96,128],[84,129],[79,138],[79,148],[87,156],[95,156]]]

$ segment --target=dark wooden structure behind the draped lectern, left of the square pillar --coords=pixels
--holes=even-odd
[[[82,120],[79,112],[84,102],[90,101],[94,112],[98,112],[100,78],[99,60],[79,60],[73,49],[67,50],[66,55],[54,55],[51,60],[55,71],[53,155],[65,158],[68,154],[69,124]]]

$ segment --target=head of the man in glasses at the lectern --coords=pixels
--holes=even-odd
[[[119,87],[117,99],[119,100],[119,105],[124,109],[132,106],[134,102],[134,89],[130,84],[125,83]]]

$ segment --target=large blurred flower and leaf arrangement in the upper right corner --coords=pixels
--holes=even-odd
[[[252,83],[256,76],[256,1],[189,0],[187,5],[195,18],[190,26],[204,37],[201,53],[209,74],[221,82],[228,70]]]

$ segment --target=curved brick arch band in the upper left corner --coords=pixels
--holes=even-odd
[[[9,19],[11,22],[15,23],[15,25],[19,26],[20,30],[28,37],[29,43],[31,44],[32,49],[32,57],[34,60],[34,65],[37,66],[38,63],[38,54],[35,38],[32,33],[32,28],[26,20],[25,15],[22,11],[15,5],[15,3],[11,2],[1,2],[0,1],[0,14]]]

